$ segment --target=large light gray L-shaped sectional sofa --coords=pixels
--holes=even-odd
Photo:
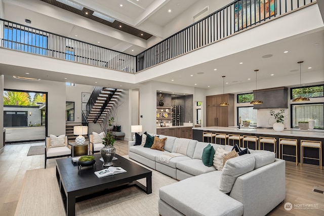
[[[129,142],[129,157],[179,180],[159,189],[159,214],[165,215],[265,215],[285,199],[285,161],[273,152],[253,151],[226,161],[222,171],[207,167],[201,160],[208,143],[169,136],[159,151]],[[161,161],[160,155],[186,154]],[[215,150],[231,151],[232,146],[211,144]],[[183,151],[183,149],[182,149]],[[184,152],[183,152],[184,153]]]

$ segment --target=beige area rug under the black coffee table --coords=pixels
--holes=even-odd
[[[146,185],[146,180],[139,180]],[[130,187],[77,202],[76,215],[159,215],[158,189],[177,182],[152,170],[152,193]],[[15,215],[65,215],[55,167],[27,170]]]

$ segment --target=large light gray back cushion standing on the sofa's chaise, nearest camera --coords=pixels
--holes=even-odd
[[[236,178],[252,171],[254,166],[255,158],[252,154],[245,154],[227,160],[222,170],[219,190],[223,193],[231,192]]]

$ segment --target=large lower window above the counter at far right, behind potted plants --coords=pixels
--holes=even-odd
[[[291,127],[298,128],[299,121],[308,121],[309,119],[315,120],[314,129],[324,129],[323,125],[323,107],[324,103],[316,104],[292,104],[292,125]]]

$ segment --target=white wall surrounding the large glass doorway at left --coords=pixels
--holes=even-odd
[[[5,76],[4,88],[12,90],[48,92],[48,135],[65,134],[65,83],[47,80],[27,81]],[[2,91],[3,95],[3,91]],[[3,107],[4,103],[0,104]],[[3,112],[2,112],[3,113]],[[2,120],[3,122],[3,120]]]

